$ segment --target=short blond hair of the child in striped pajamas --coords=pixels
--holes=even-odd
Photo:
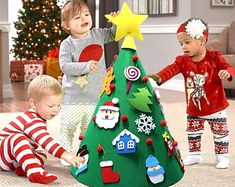
[[[60,96],[63,89],[59,81],[49,75],[39,75],[29,83],[28,98],[40,101],[43,96]]]

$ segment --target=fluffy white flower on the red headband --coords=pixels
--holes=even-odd
[[[206,30],[206,25],[200,19],[192,19],[185,26],[186,33],[191,38],[200,39],[203,37],[203,32]]]

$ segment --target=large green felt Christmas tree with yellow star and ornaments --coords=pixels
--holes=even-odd
[[[84,163],[71,173],[92,187],[170,186],[183,177],[184,167],[133,39],[142,39],[139,25],[147,16],[133,14],[124,3],[117,17],[106,17],[117,25],[116,40],[124,41],[81,141],[77,155]]]

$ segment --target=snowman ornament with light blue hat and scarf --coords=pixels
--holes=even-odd
[[[164,173],[165,170],[162,166],[159,165],[159,161],[157,158],[153,155],[150,155],[146,159],[146,167],[147,167],[147,175],[149,177],[149,180],[153,184],[160,183],[164,180]]]

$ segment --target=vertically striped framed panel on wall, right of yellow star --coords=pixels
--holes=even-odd
[[[149,16],[175,16],[177,0],[132,0],[133,12]]]

